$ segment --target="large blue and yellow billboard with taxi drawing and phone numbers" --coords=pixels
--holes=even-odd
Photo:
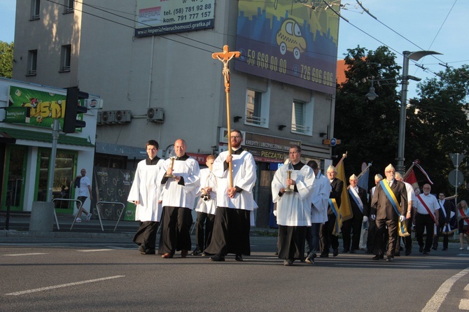
[[[329,2],[239,0],[235,69],[333,94],[340,1]]]

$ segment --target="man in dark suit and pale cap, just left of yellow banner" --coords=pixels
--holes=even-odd
[[[340,208],[340,195],[344,188],[344,182],[335,177],[337,175],[337,169],[335,169],[335,166],[329,166],[326,174],[328,175],[332,189],[329,194],[328,221],[325,222],[319,230],[319,239],[321,240],[321,246],[323,248],[319,257],[329,257],[329,250],[331,247],[333,250],[332,255],[336,257],[339,255],[339,238],[333,233],[335,222],[337,220],[334,211],[338,211]],[[334,210],[332,208],[334,208]],[[338,230],[339,229],[336,229],[336,231]]]

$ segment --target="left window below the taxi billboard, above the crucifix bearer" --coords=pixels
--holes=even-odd
[[[244,124],[268,127],[268,118],[269,92],[247,90]]]

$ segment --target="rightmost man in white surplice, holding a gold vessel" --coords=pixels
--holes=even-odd
[[[279,225],[279,258],[286,266],[295,260],[304,260],[304,241],[307,227],[311,227],[311,193],[315,176],[300,157],[300,146],[290,146],[289,158],[293,168],[281,166],[272,180],[272,200],[276,203]],[[291,171],[290,178],[288,171]]]

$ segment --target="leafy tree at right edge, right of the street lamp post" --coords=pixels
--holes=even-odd
[[[421,98],[410,101],[405,154],[424,164],[435,183],[432,191],[451,194],[454,188],[449,185],[447,176],[454,166],[449,153],[469,153],[469,66],[446,69],[437,75],[419,83]],[[465,171],[467,178],[465,163],[462,165],[460,170]]]

